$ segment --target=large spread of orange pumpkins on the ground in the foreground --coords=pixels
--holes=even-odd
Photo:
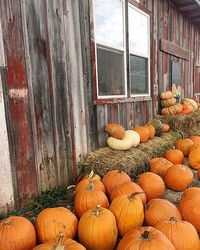
[[[178,140],[164,157],[151,159],[150,171],[136,182],[119,170],[102,179],[85,176],[76,185],[75,214],[44,209],[35,228],[23,217],[9,217],[0,223],[0,250],[200,250],[200,188],[188,188],[194,176],[184,157],[200,172],[199,136]],[[183,192],[178,207],[162,199],[165,187]]]

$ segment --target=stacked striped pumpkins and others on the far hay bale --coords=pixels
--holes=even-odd
[[[171,91],[161,92],[160,98],[162,115],[176,115],[181,113],[188,115],[200,108],[200,105],[198,105],[192,98],[183,98],[182,104],[176,103],[176,98],[173,97],[173,93]]]

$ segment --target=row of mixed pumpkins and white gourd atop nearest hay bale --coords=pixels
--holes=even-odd
[[[109,137],[107,144],[114,150],[128,150],[137,147],[140,143],[153,139],[155,135],[169,131],[169,125],[163,124],[159,119],[153,119],[149,123],[125,130],[123,126],[110,123],[105,126],[105,131]]]

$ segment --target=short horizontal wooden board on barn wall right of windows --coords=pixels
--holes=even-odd
[[[160,40],[160,50],[170,55],[180,57],[189,61],[189,57],[190,57],[189,50],[175,43],[172,43],[168,40],[165,40],[165,39]]]

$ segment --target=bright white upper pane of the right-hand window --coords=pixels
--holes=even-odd
[[[130,51],[149,54],[149,19],[129,6],[129,48]]]

